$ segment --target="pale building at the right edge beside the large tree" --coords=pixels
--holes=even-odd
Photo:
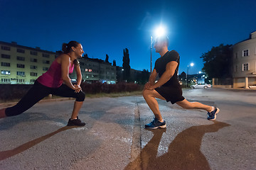
[[[233,45],[234,88],[256,86],[256,31]]]

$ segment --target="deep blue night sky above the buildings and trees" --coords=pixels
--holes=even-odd
[[[132,69],[150,70],[150,37],[161,24],[169,50],[181,56],[179,73],[193,62],[189,74],[196,74],[211,47],[249,38],[256,30],[255,10],[255,0],[0,0],[0,40],[53,52],[76,40],[89,57],[105,60],[107,54],[119,66],[128,48]],[[152,57],[154,67],[154,49]]]

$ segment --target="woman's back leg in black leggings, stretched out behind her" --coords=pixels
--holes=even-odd
[[[43,86],[36,81],[33,87],[28,90],[28,93],[21,98],[21,101],[19,101],[15,106],[6,108],[6,116],[19,115],[24,111],[27,111],[28,108],[31,108],[49,94],[48,89],[48,87]]]

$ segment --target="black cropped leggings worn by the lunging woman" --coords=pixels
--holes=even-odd
[[[75,93],[73,89],[70,89],[67,85],[63,84],[58,88],[50,88],[47,86],[43,86],[38,81],[35,82],[33,87],[28,91],[28,93],[21,98],[15,106],[10,108],[6,108],[6,116],[14,116],[27,111],[28,108],[34,106],[38,101],[41,101],[44,97],[49,94],[53,94],[56,96],[62,97],[72,97],[76,98],[75,101],[84,101],[85,93],[80,91],[79,93]]]

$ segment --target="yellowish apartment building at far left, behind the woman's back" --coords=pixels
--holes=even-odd
[[[48,70],[56,53],[40,47],[0,41],[0,84],[33,84]]]

